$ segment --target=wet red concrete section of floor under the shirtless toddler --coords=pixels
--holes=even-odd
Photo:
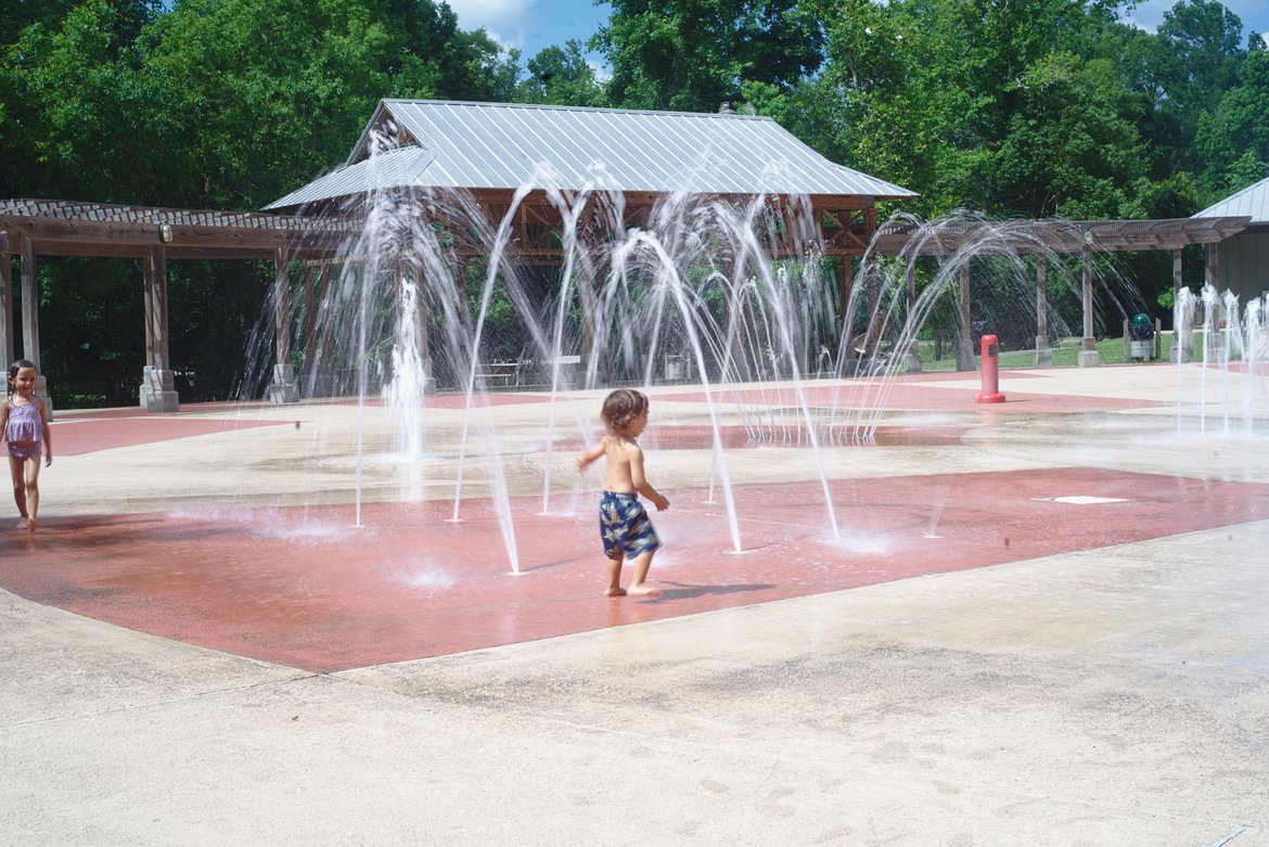
[[[121,626],[313,672],[440,656],[1094,549],[1269,516],[1269,486],[1094,469],[670,491],[656,597],[602,596],[590,496],[514,503],[522,576],[491,507],[449,503],[52,517],[0,533],[0,585]],[[1076,505],[1085,496],[1123,502]],[[935,536],[935,538],[929,538]],[[628,578],[628,573],[627,573]]]

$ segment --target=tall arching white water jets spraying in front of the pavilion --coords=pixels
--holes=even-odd
[[[623,194],[602,167],[591,176],[579,190],[562,190],[555,174],[539,170],[492,223],[471,195],[421,188],[371,191],[340,210],[365,226],[335,262],[340,273],[332,290],[302,304],[321,328],[302,351],[303,388],[310,397],[324,388],[357,397],[358,525],[365,462],[410,469],[420,481],[412,491],[423,492],[434,459],[429,403],[457,394],[457,464],[435,482],[453,482],[450,520],[459,522],[471,497],[468,469],[482,463],[506,557],[519,572],[503,468],[506,436],[489,408],[496,402],[490,363],[514,358],[525,383],[548,392],[546,431],[537,443],[541,515],[549,515],[552,498],[577,487],[574,478],[553,479],[553,453],[561,443],[589,441],[595,429],[598,403],[579,402],[574,392],[619,384],[651,389],[661,384],[659,365],[666,364],[669,375],[674,361],[680,370],[671,382],[690,382],[702,396],[709,436],[702,482],[708,502],[721,493],[733,550],[742,552],[745,539],[725,448],[732,426],[751,444],[805,449],[829,535],[838,541],[841,527],[824,453],[876,437],[896,378],[923,330],[952,299],[962,269],[973,262],[975,284],[983,274],[982,284],[1015,299],[1009,308],[1030,325],[1036,261],[1057,269],[1053,287],[1077,281],[1070,262],[1053,259],[1042,230],[1024,222],[980,226],[990,222],[967,213],[933,222],[898,217],[891,224],[911,230],[907,247],[898,256],[869,247],[863,261],[869,276],[851,287],[850,318],[843,320],[832,274],[819,254],[820,221],[806,198],[758,197],[736,205],[675,194],[627,228]],[[530,194],[534,202],[544,197],[557,221],[544,233],[558,256],[548,275],[528,268],[533,245],[515,240]],[[973,236],[931,269],[924,254],[967,224]],[[923,284],[910,297],[915,275]],[[1062,332],[1060,312],[1048,308],[1048,325]],[[868,320],[860,325],[857,314]],[[579,370],[566,366],[576,359]],[[391,451],[369,436],[376,402],[387,407],[396,432]]]

